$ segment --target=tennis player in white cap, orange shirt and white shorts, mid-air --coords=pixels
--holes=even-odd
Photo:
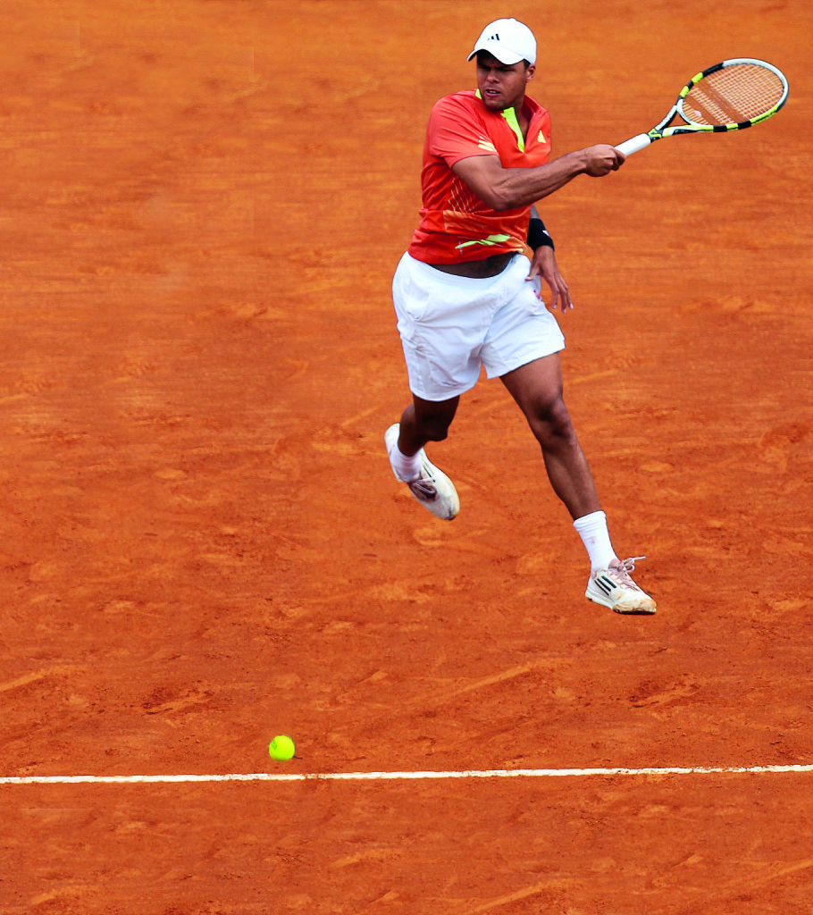
[[[535,202],[579,175],[601,178],[624,156],[594,145],[549,162],[551,118],[526,95],[536,71],[530,28],[497,19],[474,50],[475,91],[437,102],[423,150],[421,221],[395,272],[392,296],[412,404],[385,435],[396,478],[438,518],[460,507],[455,486],[426,457],[481,366],[498,377],[540,443],[553,490],[590,559],[586,597],[618,613],[654,613],[655,601],[610,542],[593,475],[562,399],[562,332],[551,311],[572,308],[553,242]]]

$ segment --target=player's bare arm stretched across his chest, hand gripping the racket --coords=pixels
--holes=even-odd
[[[452,168],[477,197],[492,210],[501,211],[527,207],[563,188],[578,175],[602,178],[617,171],[624,160],[624,154],[615,146],[598,144],[536,168],[504,168],[499,156],[467,156]]]

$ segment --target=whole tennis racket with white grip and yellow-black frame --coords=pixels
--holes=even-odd
[[[615,148],[629,156],[664,136],[743,130],[776,114],[787,101],[787,91],[785,74],[765,60],[723,60],[690,80],[669,114],[648,134]],[[676,115],[686,124],[667,126]]]

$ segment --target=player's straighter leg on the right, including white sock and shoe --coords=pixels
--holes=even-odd
[[[654,613],[655,601],[630,576],[635,560],[619,560],[610,542],[593,473],[564,404],[559,354],[509,371],[502,382],[540,443],[551,486],[582,537],[591,566],[585,596],[618,613]]]

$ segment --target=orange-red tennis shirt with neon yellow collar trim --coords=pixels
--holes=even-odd
[[[551,153],[551,116],[528,96],[528,139],[513,108],[490,112],[475,90],[437,102],[423,146],[421,222],[407,251],[426,264],[460,264],[492,254],[529,253],[530,205],[491,210],[452,166],[468,156],[499,156],[504,168],[542,166]]]

